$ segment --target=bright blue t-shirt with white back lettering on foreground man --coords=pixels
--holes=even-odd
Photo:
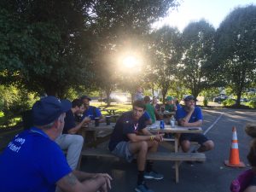
[[[55,192],[72,172],[61,148],[36,127],[16,135],[0,155],[0,191]]]

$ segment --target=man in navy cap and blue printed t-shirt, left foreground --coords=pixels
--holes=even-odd
[[[33,127],[16,135],[0,155],[1,191],[108,191],[107,173],[72,171],[55,143],[65,125],[67,100],[46,96],[32,107]]]

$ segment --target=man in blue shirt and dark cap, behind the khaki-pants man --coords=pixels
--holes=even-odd
[[[95,120],[96,118],[99,118],[100,122],[103,122],[104,119],[102,118],[102,113],[99,108],[96,108],[95,106],[90,106],[90,97],[89,96],[81,96],[80,98],[84,104],[84,113],[82,119],[85,117],[89,117],[91,120]]]

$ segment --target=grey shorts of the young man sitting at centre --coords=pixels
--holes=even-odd
[[[134,159],[133,154],[131,154],[129,150],[129,142],[120,142],[118,143],[115,148],[113,148],[112,154],[124,158],[128,162],[131,163],[131,161]]]

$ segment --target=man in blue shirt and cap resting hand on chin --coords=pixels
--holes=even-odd
[[[176,111],[176,118],[178,125],[182,126],[201,126],[202,113],[201,108],[195,107],[197,101],[194,96],[186,96],[184,99],[184,107],[178,108]],[[197,142],[201,145],[200,148],[194,152],[204,152],[214,148],[214,143],[201,133],[183,133],[180,137],[180,145],[183,152],[188,152],[190,149],[190,142]]]

